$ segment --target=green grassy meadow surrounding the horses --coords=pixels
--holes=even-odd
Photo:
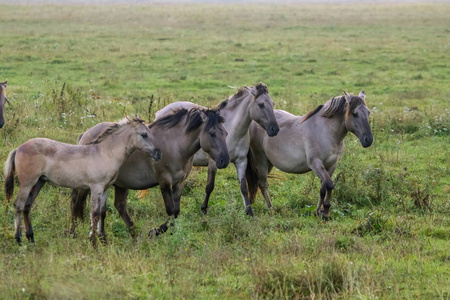
[[[130,192],[136,241],[111,192],[98,250],[89,222],[67,233],[70,190],[50,184],[31,211],[36,244],[18,247],[1,175],[0,298],[450,298],[448,3],[0,8],[2,166],[34,137],[75,143],[98,122],[153,120],[178,100],[213,107],[259,81],[299,115],[364,90],[375,139],[364,149],[347,136],[329,222],[313,214],[312,173],[272,172],[275,209],[258,194],[246,216],[232,164],[203,216],[207,174],[195,168],[158,238],[147,237],[166,218],[158,188]]]

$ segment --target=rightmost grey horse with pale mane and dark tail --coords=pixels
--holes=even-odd
[[[250,200],[254,201],[259,187],[267,206],[272,206],[267,175],[273,166],[286,173],[313,171],[321,180],[316,212],[328,220],[334,188],[331,176],[343,154],[344,137],[348,132],[355,134],[364,148],[373,142],[365,98],[364,91],[359,96],[344,92],[305,116],[275,110],[280,133],[270,139],[252,123],[246,170]]]

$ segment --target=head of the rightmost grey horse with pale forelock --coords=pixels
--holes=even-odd
[[[370,110],[366,105],[366,95],[364,91],[358,96],[347,94],[344,91],[347,102],[347,113],[345,117],[345,127],[359,138],[364,148],[372,145],[373,135],[369,124]]]

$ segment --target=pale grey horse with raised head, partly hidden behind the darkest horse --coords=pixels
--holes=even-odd
[[[269,137],[277,135],[279,127],[273,112],[273,106],[274,103],[267,90],[267,85],[261,82],[252,87],[244,86],[240,88],[237,93],[220,103],[217,107],[225,119],[224,126],[228,131],[228,152],[230,153],[231,162],[236,166],[246,213],[251,216],[253,216],[253,209],[248,198],[245,179],[247,153],[250,145],[248,129],[252,121],[255,121],[264,128]],[[156,119],[180,107],[192,108],[201,106],[186,101],[174,102],[156,112]],[[202,212],[206,215],[208,201],[214,190],[217,168],[214,162],[209,160],[207,155],[201,150],[194,156],[194,166],[208,167],[206,195],[201,206]]]

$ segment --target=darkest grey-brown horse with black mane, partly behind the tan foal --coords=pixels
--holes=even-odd
[[[148,159],[144,153],[135,151],[120,168],[114,183],[114,206],[133,237],[136,235],[134,223],[126,206],[128,190],[145,190],[159,185],[168,218],[157,229],[152,229],[149,235],[159,235],[167,231],[170,219],[176,218],[180,213],[181,191],[191,172],[194,154],[202,149],[215,162],[217,168],[228,166],[230,158],[223,121],[217,110],[192,108],[179,109],[149,125],[157,141],[156,145],[164,153],[163,157],[155,162]],[[107,126],[108,123],[95,125],[82,135],[78,143],[89,143]],[[72,232],[77,219],[83,217],[87,193],[88,191],[72,193]],[[102,226],[104,218],[105,215],[102,215]],[[173,222],[170,225],[173,225]],[[103,229],[102,231],[104,232]]]

